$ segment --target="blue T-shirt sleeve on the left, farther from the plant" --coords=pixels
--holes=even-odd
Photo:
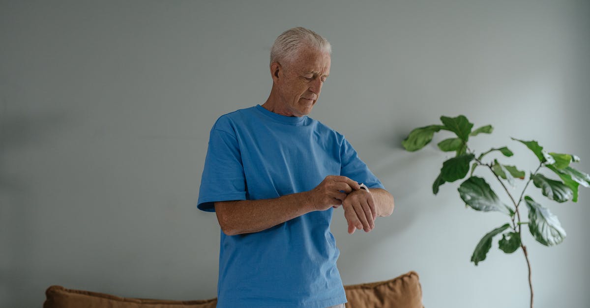
[[[217,123],[216,123],[217,126]],[[214,202],[246,199],[244,167],[233,130],[211,129],[197,208],[215,212]]]

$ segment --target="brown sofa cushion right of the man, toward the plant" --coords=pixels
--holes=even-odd
[[[423,308],[418,274],[410,271],[391,280],[345,286],[347,308]]]

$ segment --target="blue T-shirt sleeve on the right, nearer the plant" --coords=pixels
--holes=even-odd
[[[340,175],[363,183],[369,188],[385,189],[381,181],[360,160],[356,150],[352,148],[352,145],[346,139],[343,139],[342,145],[340,146],[340,163]]]

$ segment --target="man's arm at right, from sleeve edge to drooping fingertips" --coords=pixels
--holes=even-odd
[[[353,191],[342,202],[348,232],[356,229],[369,232],[375,228],[377,217],[387,217],[394,211],[394,196],[381,188]]]

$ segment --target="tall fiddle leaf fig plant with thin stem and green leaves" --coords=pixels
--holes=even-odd
[[[441,130],[454,133],[455,136],[437,144],[440,150],[455,152],[455,156],[442,163],[440,172],[432,184],[432,192],[436,195],[442,185],[467,178],[457,189],[460,198],[467,207],[476,211],[496,211],[506,215],[507,222],[505,224],[494,228],[481,238],[471,255],[471,262],[477,266],[478,263],[486,260],[486,255],[496,238],[499,238],[499,249],[506,254],[512,254],[521,248],[529,267],[530,307],[533,308],[531,267],[529,254],[522,242],[522,225],[528,225],[533,238],[545,246],[562,243],[566,232],[559,219],[548,208],[537,203],[531,196],[525,195],[525,191],[530,182],[533,182],[533,185],[539,188],[543,196],[546,196],[550,201],[563,203],[571,200],[578,202],[578,188],[579,186],[590,187],[590,175],[573,168],[573,163],[580,161],[576,155],[547,152],[536,140],[520,140],[511,137],[513,141],[525,145],[539,160],[537,169],[534,172],[529,172],[527,178],[527,173],[517,166],[507,165],[500,159],[484,159],[486,155],[494,152],[505,156],[504,159],[513,156],[514,153],[507,146],[491,148],[479,155],[468,147],[467,142],[470,137],[493,132],[491,125],[473,130],[473,123],[463,115],[441,116],[440,120],[442,125],[433,124],[412,130],[402,142],[402,146],[410,152],[415,152],[428,145],[434,134]],[[501,184],[507,195],[505,201],[502,201],[491,189],[486,179],[473,175],[478,167],[486,168],[489,171],[487,174]],[[549,178],[540,171],[557,176],[557,179]],[[526,183],[520,196],[515,199],[507,186],[515,189],[517,181],[526,181]],[[528,217],[521,217],[520,211],[523,207],[527,208]]]

